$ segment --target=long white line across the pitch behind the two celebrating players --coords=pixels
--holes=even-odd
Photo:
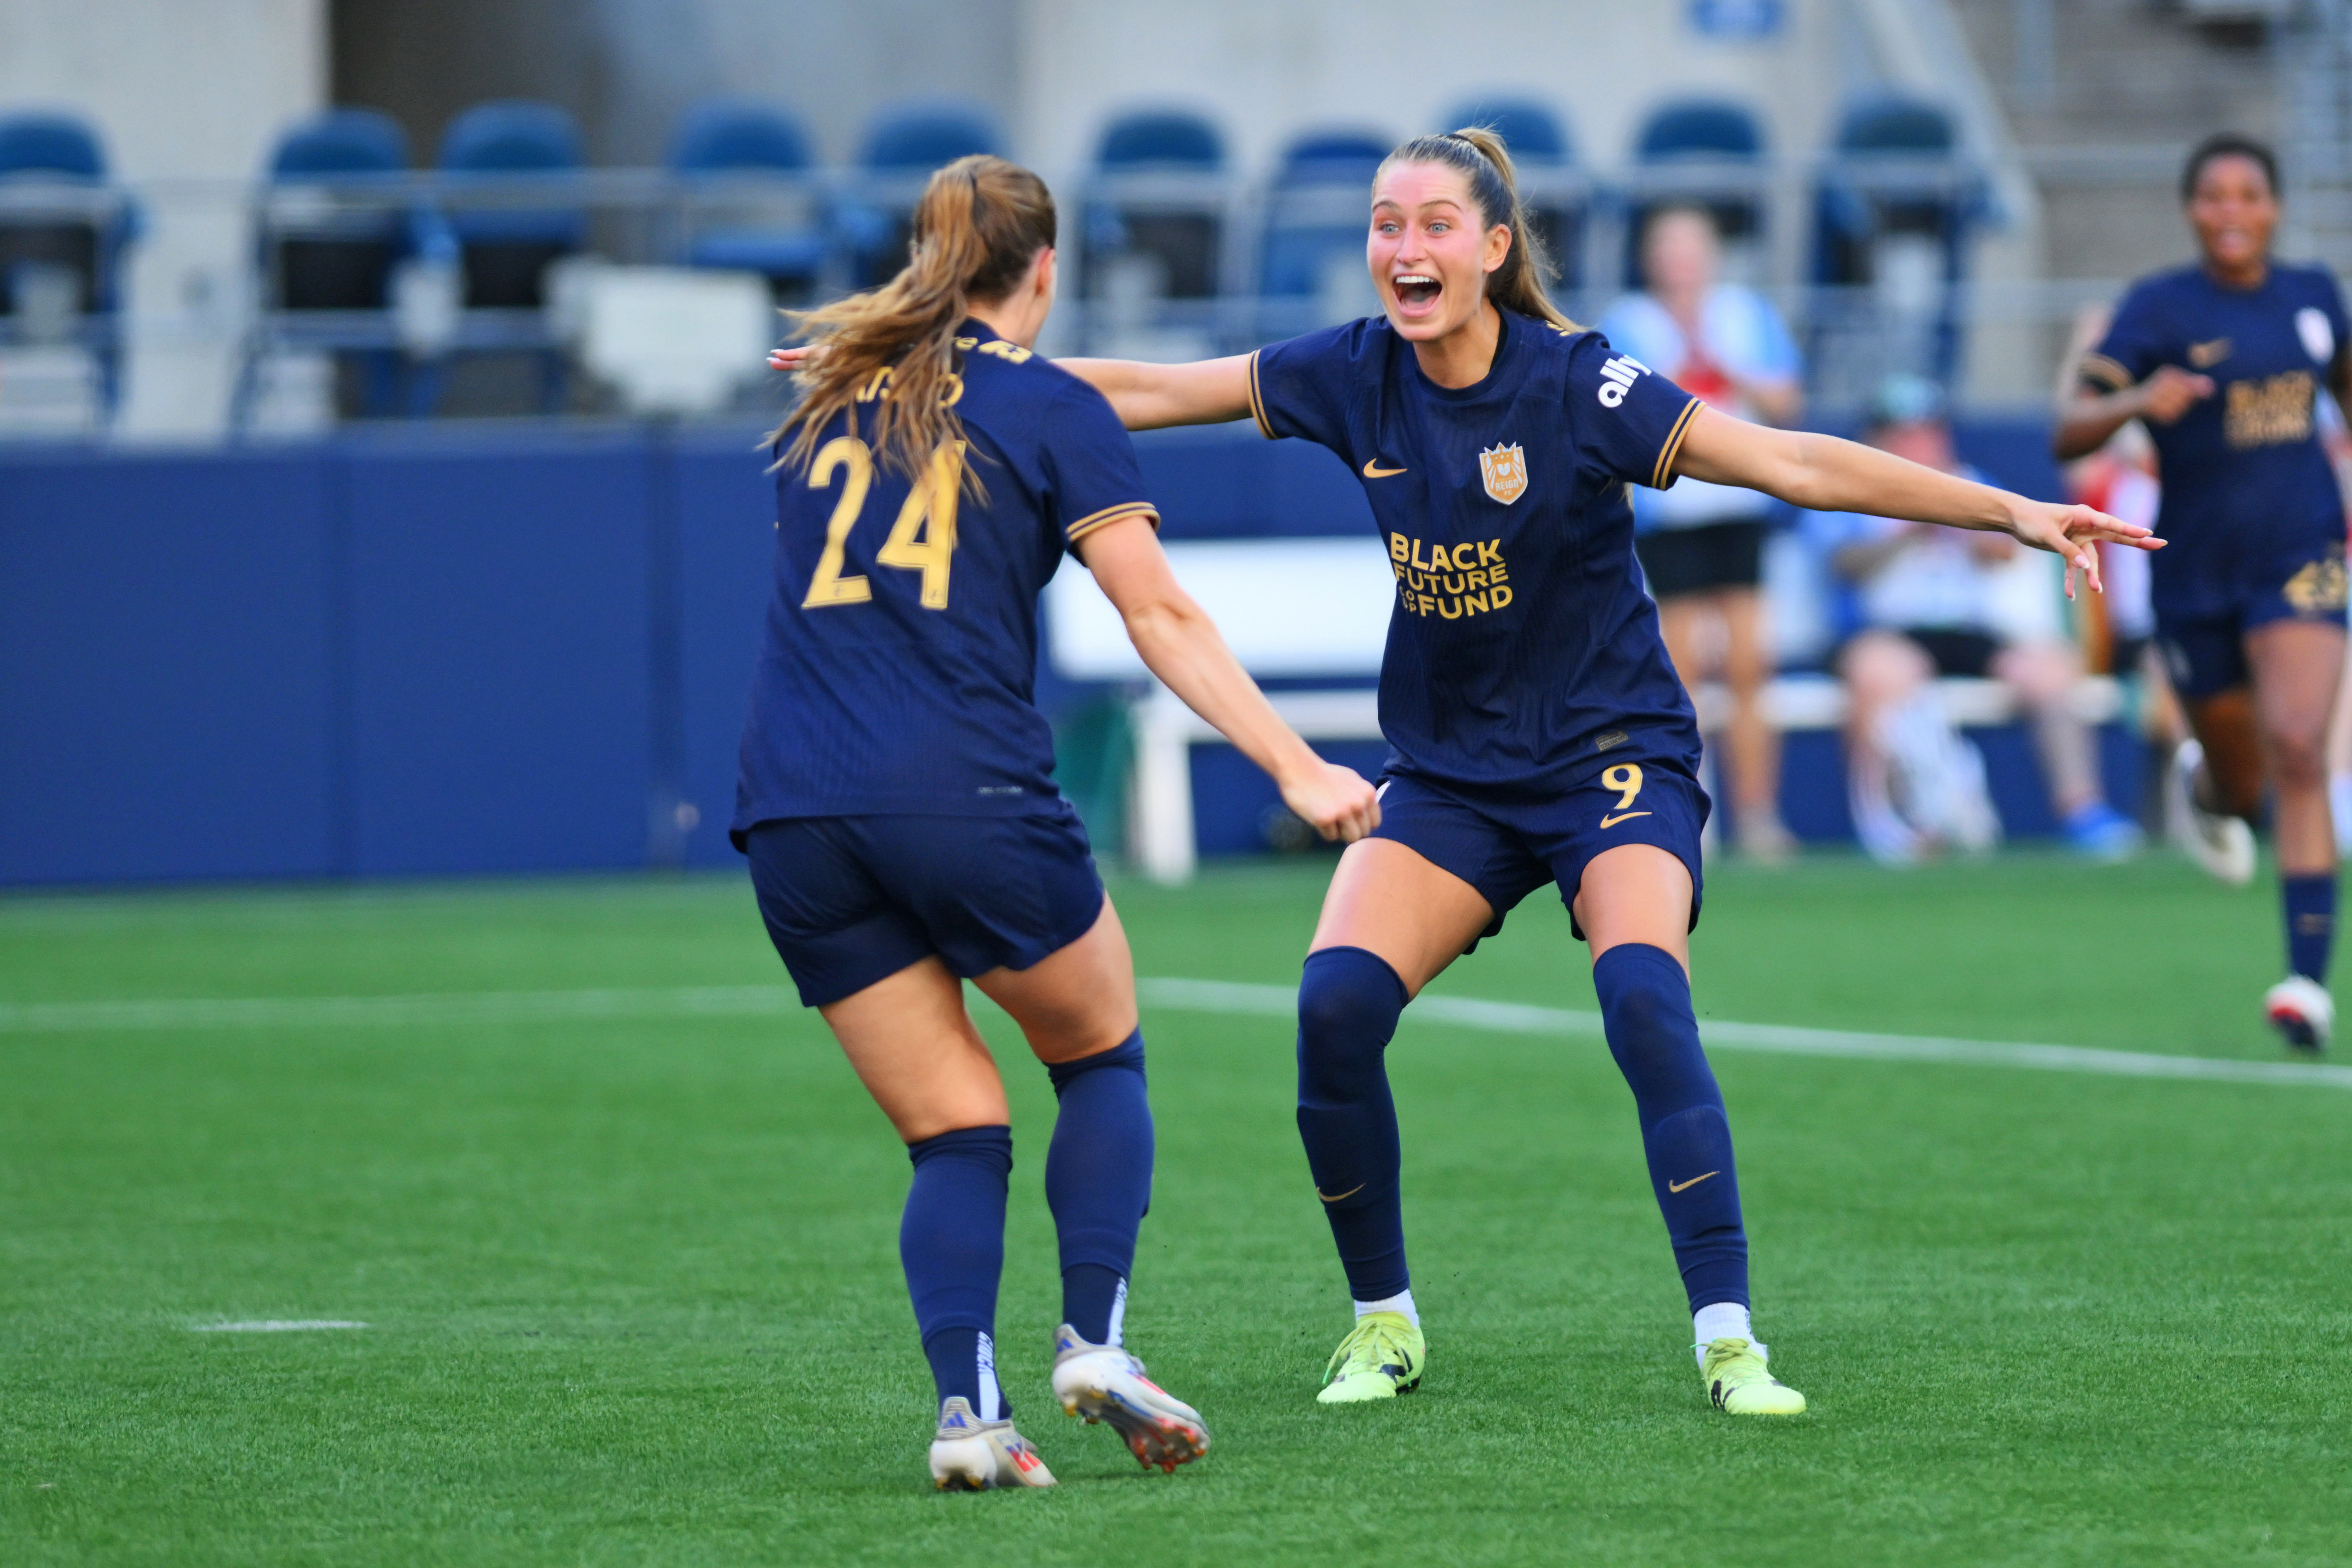
[[[1145,978],[1136,983],[1150,1006],[1188,1013],[1296,1016],[1289,985],[1240,980]],[[604,1018],[771,1018],[797,1013],[786,985],[680,985],[562,992],[449,992],[409,997],[223,997],[160,1001],[21,1001],[0,1004],[0,1034],[66,1034],[115,1030],[334,1030],[414,1027],[459,1023],[564,1023]],[[1449,1023],[1501,1034],[1599,1037],[1599,1013],[1522,1001],[1421,997],[1406,1023]],[[2331,1063],[2241,1063],[2152,1051],[2098,1051],[1929,1034],[1865,1034],[1806,1030],[1776,1023],[1705,1020],[1710,1051],[1769,1051],[1778,1056],[1842,1056],[1884,1063],[1964,1063],[1978,1067],[2037,1067],[2129,1079],[2204,1079],[2225,1084],[2305,1084],[2352,1088],[2352,1067]]]

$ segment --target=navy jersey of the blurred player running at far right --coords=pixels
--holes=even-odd
[[[2161,364],[2216,381],[2171,425],[2147,421],[2164,480],[2157,534],[2171,541],[2150,562],[2161,614],[2234,609],[2343,548],[2343,496],[2312,414],[2347,336],[2326,268],[2274,263],[2260,289],[2225,289],[2190,266],[2124,296],[2084,381],[2114,393]]]

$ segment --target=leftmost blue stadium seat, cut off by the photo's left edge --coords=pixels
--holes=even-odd
[[[73,115],[0,118],[0,341],[80,343],[99,374],[99,411],[120,395],[122,254],[139,235],[139,212],[106,186],[99,134]],[[59,284],[40,303],[35,277]],[[52,308],[54,320],[49,317]]]

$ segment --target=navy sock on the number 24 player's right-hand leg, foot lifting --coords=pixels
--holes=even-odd
[[[1117,1345],[1136,1229],[1152,1206],[1152,1105],[1143,1093],[1143,1030],[1110,1051],[1049,1063],[1054,1145],[1044,1201],[1061,1237],[1061,1321],[1091,1345]]]

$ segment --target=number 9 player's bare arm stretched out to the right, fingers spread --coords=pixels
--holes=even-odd
[[[2164,548],[2164,541],[2152,538],[2147,529],[2089,505],[2027,501],[2006,489],[1922,468],[1860,442],[1799,430],[1766,430],[1715,409],[1700,409],[1691,418],[1675,473],[1712,484],[1745,484],[1816,512],[1870,512],[2009,534],[2018,543],[2065,557],[2070,599],[2077,571],[2091,581],[2091,588],[2103,588],[2098,550],[2091,545],[2105,541],[2140,550]]]

